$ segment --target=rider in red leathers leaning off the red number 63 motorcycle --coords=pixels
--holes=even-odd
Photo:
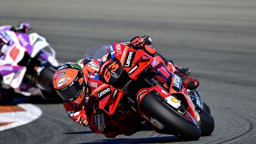
[[[157,61],[165,62],[157,55],[156,50],[144,44],[142,37],[135,37],[131,40],[130,46],[134,49],[144,49],[146,53]],[[140,45],[140,46],[139,46]],[[108,55],[108,54],[107,54]],[[87,84],[88,74],[98,72],[100,62],[106,61],[108,56],[93,60],[90,58],[80,59],[77,63],[66,63],[60,67],[53,76],[53,86],[57,93],[64,100],[64,108],[67,115],[78,122],[81,126],[90,128],[96,133],[103,133],[107,138],[114,138],[116,135],[132,135],[141,130],[140,124],[125,118],[112,118],[97,108],[97,99],[91,93]],[[92,63],[89,63],[93,61]],[[166,63],[166,62],[165,62]],[[195,89],[199,82],[184,74],[180,74],[172,63],[167,63],[167,69],[181,75],[186,88]],[[185,80],[184,80],[185,79]],[[192,83],[192,84],[191,84]],[[119,115],[120,116],[120,115]]]

